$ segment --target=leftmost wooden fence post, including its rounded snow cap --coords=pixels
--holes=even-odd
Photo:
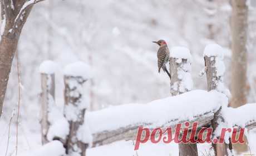
[[[40,65],[41,72],[41,134],[42,144],[48,143],[47,133],[50,128],[48,108],[55,101],[55,63],[47,60]]]

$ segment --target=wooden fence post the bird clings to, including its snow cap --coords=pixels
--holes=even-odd
[[[170,50],[171,96],[190,91],[193,87],[191,78],[191,55],[189,49],[176,46]],[[197,156],[196,144],[179,143],[180,156]]]

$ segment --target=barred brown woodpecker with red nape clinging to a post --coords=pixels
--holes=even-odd
[[[157,51],[157,66],[158,66],[158,72],[160,73],[160,70],[163,69],[164,72],[166,72],[168,74],[168,76],[170,77],[171,80],[171,75],[169,73],[169,71],[166,69],[166,63],[168,63],[170,61],[169,58],[169,48],[166,44],[165,40],[158,40],[158,41],[152,41],[153,43],[156,43],[157,45],[159,45],[159,49]]]

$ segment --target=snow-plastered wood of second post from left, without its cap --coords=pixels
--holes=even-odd
[[[88,144],[77,138],[78,129],[82,126],[86,103],[83,102],[82,85],[87,79],[82,76],[66,76],[65,83],[65,112],[64,115],[70,124],[70,133],[66,143],[68,154],[85,156]]]

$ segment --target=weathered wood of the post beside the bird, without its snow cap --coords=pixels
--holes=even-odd
[[[171,51],[172,53],[173,51]],[[178,51],[183,53],[183,51]],[[175,53],[175,52],[174,52]],[[182,73],[190,72],[191,63],[188,59],[185,58],[170,58],[170,75],[171,75],[171,96],[179,95],[180,93],[187,92],[191,89],[188,89],[184,86],[184,75],[179,75]],[[189,77],[191,79],[191,75]],[[198,155],[198,148],[196,144],[184,144],[179,143],[179,155],[180,156],[196,156]]]

